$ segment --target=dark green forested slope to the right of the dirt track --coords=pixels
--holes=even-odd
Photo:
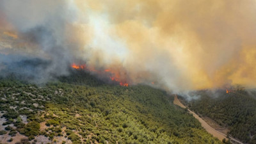
[[[191,93],[200,99],[187,102],[190,109],[228,127],[229,134],[244,143],[256,143],[256,93],[243,88]]]

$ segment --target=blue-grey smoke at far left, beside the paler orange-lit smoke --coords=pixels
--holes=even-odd
[[[1,1],[1,74],[17,73],[47,81],[68,74],[79,45],[67,42],[67,25],[76,19],[68,1]],[[3,36],[15,31],[17,37]],[[10,47],[4,47],[6,41]],[[21,45],[21,46],[20,46]],[[4,54],[4,55],[3,55]],[[44,63],[44,64],[42,64]]]

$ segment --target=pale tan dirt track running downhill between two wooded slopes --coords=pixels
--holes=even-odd
[[[177,95],[175,95],[174,100],[173,100],[173,104],[176,104],[177,106],[180,106],[181,108],[186,108],[186,106],[184,106],[180,100],[178,99]],[[191,113],[197,120],[199,120],[199,122],[202,124],[202,127],[204,127],[204,129],[209,132],[210,134],[212,134],[212,136],[218,138],[219,140],[223,140],[223,138],[226,138],[227,135],[223,134],[219,131],[216,131],[214,128],[212,128],[209,124],[207,124],[202,118],[200,118],[198,115],[196,115],[196,113],[194,113],[193,111],[189,110],[189,113]],[[230,140],[232,141],[232,143],[241,143],[241,141],[237,141],[234,138],[230,138]]]

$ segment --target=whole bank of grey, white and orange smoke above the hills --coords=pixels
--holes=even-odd
[[[84,61],[173,92],[255,87],[254,0],[3,0],[0,18],[0,54],[50,61],[45,77]]]

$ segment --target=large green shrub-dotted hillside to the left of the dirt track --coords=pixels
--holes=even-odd
[[[84,72],[44,86],[1,79],[0,96],[0,138],[27,137],[19,143],[221,143],[165,92],[104,84]]]

